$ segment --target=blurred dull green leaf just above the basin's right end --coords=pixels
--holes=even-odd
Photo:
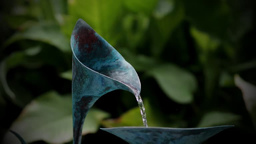
[[[241,117],[239,115],[233,113],[213,111],[206,113],[197,127],[209,127],[225,124],[230,125],[234,124],[234,122],[238,121],[240,118]]]

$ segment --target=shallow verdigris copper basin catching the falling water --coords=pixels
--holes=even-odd
[[[233,126],[206,128],[116,127],[102,129],[130,144],[200,144]]]

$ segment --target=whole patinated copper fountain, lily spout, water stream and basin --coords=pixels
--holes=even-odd
[[[131,144],[198,144],[233,126],[206,128],[147,127],[146,113],[140,97],[140,80],[134,68],[85,21],[79,19],[71,35],[73,52],[72,106],[73,143],[80,144],[84,119],[102,95],[122,89],[133,93],[138,101],[145,127],[102,129]]]

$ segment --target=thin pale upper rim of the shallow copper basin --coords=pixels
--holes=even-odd
[[[197,129],[210,129],[210,128],[231,128],[234,125],[223,125],[223,126],[213,126],[213,127],[201,127],[201,128],[169,128],[169,127],[136,127],[136,126],[129,126],[129,127],[113,127],[113,128],[100,128],[101,130],[113,130],[113,129],[164,129],[164,130],[197,130]]]

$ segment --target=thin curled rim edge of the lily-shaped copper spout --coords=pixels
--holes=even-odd
[[[79,21],[85,22],[83,19],[78,19],[77,22],[76,22],[76,25],[77,25],[77,23],[78,23]],[[85,23],[86,23],[86,22],[85,22]],[[76,27],[76,25],[75,25],[75,27]],[[74,29],[75,29],[75,27],[74,27]],[[73,31],[74,31],[74,29],[73,29]],[[96,32],[96,33],[97,33],[97,32]],[[99,36],[100,36],[100,35],[99,35]],[[100,36],[100,37],[101,37],[101,36]],[[104,39],[104,38],[103,38],[103,39]],[[125,84],[125,83],[123,83],[123,82],[121,82],[121,81],[119,81],[119,80],[116,80],[116,79],[113,79],[113,78],[108,77],[108,76],[106,76],[106,75],[103,75],[103,74],[101,74],[101,73],[99,73],[99,72],[97,72],[97,71],[92,70],[91,68],[87,67],[86,65],[84,65],[84,64],[76,57],[76,55],[75,55],[75,53],[74,53],[74,48],[72,47],[71,43],[70,43],[70,46],[71,46],[71,50],[72,50],[72,53],[73,53],[74,57],[76,58],[77,61],[79,61],[79,63],[80,63],[81,65],[83,65],[83,66],[86,67],[87,69],[89,69],[89,70],[91,70],[91,71],[93,71],[93,72],[95,72],[95,73],[97,73],[97,74],[99,74],[99,75],[102,75],[102,76],[104,76],[104,77],[106,77],[106,78],[109,78],[109,79],[111,79],[111,80],[117,81],[117,82],[119,82],[119,83],[121,83],[121,84],[127,86],[127,87],[133,92],[133,94],[136,93],[135,90],[132,89],[129,85],[127,85],[127,84]],[[132,67],[132,68],[133,68],[133,67]],[[133,68],[133,69],[134,69],[134,68]],[[134,69],[134,71],[136,71],[136,70]],[[137,73],[136,73],[136,75],[137,75],[137,77],[139,78],[139,76],[138,76]],[[140,81],[139,81],[139,84],[140,84],[140,87],[141,87]],[[139,92],[140,92],[140,91],[139,91]]]

